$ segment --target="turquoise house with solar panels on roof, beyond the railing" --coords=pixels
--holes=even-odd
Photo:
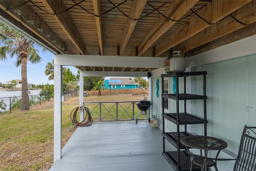
[[[134,89],[138,88],[139,84],[129,78],[110,78],[104,81],[105,89]]]

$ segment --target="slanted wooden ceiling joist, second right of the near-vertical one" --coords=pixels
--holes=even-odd
[[[164,12],[164,16],[179,20],[190,8],[192,8],[199,0],[172,0],[168,8]],[[138,46],[138,56],[141,56],[160,36],[162,36],[176,21],[171,21],[161,16],[154,24],[145,38]],[[130,56],[135,55],[135,50]]]

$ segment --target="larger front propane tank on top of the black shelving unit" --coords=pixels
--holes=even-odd
[[[173,52],[173,56],[170,58],[171,72],[184,72],[186,70],[186,60],[181,54],[180,50]]]

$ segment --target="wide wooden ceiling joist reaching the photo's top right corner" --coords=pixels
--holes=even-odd
[[[242,8],[236,10],[236,12],[233,12],[231,15],[246,25],[256,22],[256,2],[246,4]],[[240,28],[246,27],[246,25],[243,25],[234,20],[233,17],[228,16],[178,44],[173,48],[173,50],[182,50],[182,52],[187,52],[198,46],[206,44],[207,42],[239,30]]]

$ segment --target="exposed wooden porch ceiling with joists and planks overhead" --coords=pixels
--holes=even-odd
[[[256,0],[1,0],[0,14],[55,54],[190,57],[256,33]]]

